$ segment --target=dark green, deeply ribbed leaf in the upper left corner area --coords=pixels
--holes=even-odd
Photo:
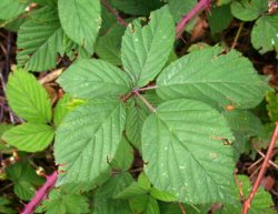
[[[26,70],[46,71],[57,64],[63,50],[63,31],[57,10],[44,7],[32,13],[18,32],[17,61]]]

